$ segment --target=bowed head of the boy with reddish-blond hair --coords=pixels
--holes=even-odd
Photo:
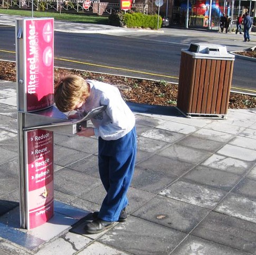
[[[60,79],[54,87],[54,101],[60,111],[69,112],[77,109],[89,93],[89,85],[82,77],[68,75]]]

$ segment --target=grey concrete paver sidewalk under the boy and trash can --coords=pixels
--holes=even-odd
[[[54,133],[61,222],[24,231],[17,213],[15,88],[0,82],[1,255],[256,254],[256,109],[229,110],[227,120],[189,119],[175,107],[129,104],[138,156],[128,220],[94,235],[84,235],[78,219],[98,210],[105,195],[97,139]],[[59,236],[49,239],[58,228]]]

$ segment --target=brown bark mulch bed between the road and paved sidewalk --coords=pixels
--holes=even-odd
[[[149,81],[124,76],[98,74],[87,71],[66,70],[54,68],[54,82],[67,74],[77,74],[84,79],[130,87],[131,90],[120,90],[127,102],[176,106],[178,85],[166,81]],[[16,82],[16,64],[14,62],[0,61],[0,80]],[[256,107],[256,96],[230,93],[229,109],[249,109]]]

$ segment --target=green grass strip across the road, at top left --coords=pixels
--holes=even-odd
[[[8,14],[8,15],[18,15],[18,16],[26,16],[31,17],[32,11],[24,11],[20,9],[0,9],[0,14]],[[98,16],[98,15],[86,15],[84,13],[64,13],[61,12],[33,12],[34,17],[51,17],[54,19],[62,20],[62,21],[70,21],[70,22],[82,22],[82,23],[93,23],[93,24],[102,24],[108,25],[108,17]]]

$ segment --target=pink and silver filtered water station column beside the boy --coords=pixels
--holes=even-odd
[[[38,227],[54,212],[53,132],[23,129],[26,113],[53,105],[53,31],[53,18],[16,20],[20,218],[24,229]]]

